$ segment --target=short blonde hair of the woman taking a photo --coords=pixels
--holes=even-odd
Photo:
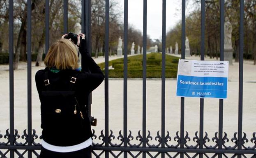
[[[44,59],[44,64],[49,69],[56,67],[56,69],[77,69],[78,56],[77,50],[68,39],[57,40],[48,50]]]

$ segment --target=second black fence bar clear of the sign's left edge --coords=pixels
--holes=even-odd
[[[146,103],[147,103],[147,0],[143,0],[143,92],[142,92],[142,147],[146,147]],[[146,158],[146,152],[142,153],[142,157]]]

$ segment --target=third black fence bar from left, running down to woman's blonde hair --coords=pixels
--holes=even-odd
[[[48,52],[49,46],[50,46],[50,28],[49,28],[49,14],[50,14],[50,10],[49,10],[49,0],[45,0],[45,55]]]

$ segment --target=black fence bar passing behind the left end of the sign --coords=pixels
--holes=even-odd
[[[181,59],[185,59],[185,35],[186,35],[186,1],[182,0],[181,13]],[[184,148],[184,111],[185,98],[180,98],[180,148]],[[184,158],[184,153],[180,153],[180,158]]]

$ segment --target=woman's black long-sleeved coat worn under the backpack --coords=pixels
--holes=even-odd
[[[85,119],[85,124],[83,127],[83,130],[74,131],[72,129],[71,133],[72,135],[69,135],[70,130],[67,127],[68,131],[51,131],[51,130],[44,130],[42,131],[42,137],[43,139],[48,143],[51,144],[52,139],[54,139],[53,133],[58,133],[61,137],[63,137],[63,142],[60,141],[57,144],[58,146],[70,146],[79,144],[81,142],[84,142],[88,138],[92,137],[92,132],[90,128],[90,119],[88,117],[87,111],[87,96],[92,92],[95,88],[97,88],[101,82],[104,80],[104,74],[102,73],[99,66],[95,63],[95,61],[90,57],[90,55],[85,51],[85,40],[82,39],[81,41],[81,48],[80,48],[81,55],[83,57],[83,62],[85,62],[85,66],[90,70],[90,73],[81,70],[79,73],[77,79],[76,79],[76,85],[74,87],[76,91],[76,98],[78,100],[79,106],[81,107],[81,111],[83,112],[83,116]],[[49,71],[49,69],[46,67],[44,70],[39,70],[36,73],[35,81],[37,85],[37,91],[39,94],[40,101],[42,102],[41,92],[46,90],[46,86],[44,83],[45,80],[45,72],[48,71],[48,79],[51,81],[51,89],[56,91],[65,91],[69,89],[70,85],[70,78],[74,76],[78,71],[72,70],[72,69],[65,69],[61,70],[58,73],[53,73]],[[42,104],[41,104],[42,106]],[[42,108],[42,107],[41,107]],[[42,125],[41,125],[42,127]]]

